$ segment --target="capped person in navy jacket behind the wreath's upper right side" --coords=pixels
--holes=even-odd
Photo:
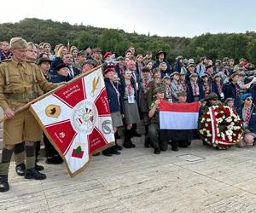
[[[224,98],[233,98],[235,101],[236,109],[241,107],[241,99],[240,99],[240,88],[237,84],[239,75],[237,73],[233,73],[230,75],[230,79],[228,83],[224,83]]]

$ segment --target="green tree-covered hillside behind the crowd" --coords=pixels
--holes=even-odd
[[[130,47],[136,48],[137,54],[152,51],[153,55],[162,49],[167,53],[167,60],[174,63],[177,55],[199,60],[207,56],[212,60],[224,57],[241,57],[256,62],[256,32],[202,34],[198,37],[159,37],[156,35],[139,35],[137,32],[126,33],[123,30],[96,28],[93,26],[70,25],[67,22],[52,20],[25,19],[18,23],[0,25],[0,41],[11,37],[24,37],[34,43],[49,42],[55,47],[58,43],[84,49],[85,46],[101,48],[102,51],[112,50],[119,55],[125,55]]]

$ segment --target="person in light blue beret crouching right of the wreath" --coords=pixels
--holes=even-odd
[[[238,145],[245,147],[249,144],[254,145],[256,141],[256,107],[253,104],[253,97],[249,93],[241,95],[241,101],[241,108],[237,112],[243,121],[245,131]]]

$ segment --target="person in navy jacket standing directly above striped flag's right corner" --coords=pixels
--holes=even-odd
[[[204,98],[202,84],[198,81],[198,75],[193,73],[190,75],[190,80],[187,88],[188,102],[199,101]]]

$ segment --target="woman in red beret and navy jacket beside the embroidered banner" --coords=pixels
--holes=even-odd
[[[120,154],[118,150],[122,149],[122,147],[118,145],[117,138],[116,138],[116,133],[118,131],[118,128],[123,125],[123,121],[122,121],[122,112],[121,112],[120,93],[119,93],[119,88],[117,83],[114,82],[115,80],[114,74],[115,74],[114,66],[108,66],[108,68],[104,71],[104,77],[105,77],[104,81],[107,89],[108,104],[111,112],[114,139],[115,139],[115,146],[107,148],[102,151],[102,154],[105,156]]]

